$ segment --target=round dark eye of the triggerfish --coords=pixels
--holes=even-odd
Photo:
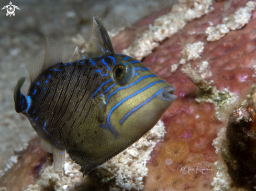
[[[129,62],[121,61],[113,68],[112,76],[114,81],[124,84],[134,76],[134,69]]]

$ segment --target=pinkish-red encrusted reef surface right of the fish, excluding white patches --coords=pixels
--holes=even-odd
[[[247,1],[232,1],[227,14],[232,15],[237,8],[245,6],[245,3]],[[213,169],[213,171],[205,171],[206,174],[201,175],[184,175],[183,173],[183,182],[177,184],[179,190],[184,190],[185,185],[191,187],[185,190],[193,190],[193,188],[195,190],[212,189],[210,184],[216,173],[213,162],[218,159],[212,143],[217,137],[218,127],[222,124],[222,121],[218,120],[215,114],[215,107],[218,103],[216,105],[207,102],[198,103],[195,100],[201,97],[202,94],[198,94],[198,88],[192,81],[186,80],[186,76],[181,71],[182,65],[178,66],[175,73],[171,73],[171,66],[180,62],[182,44],[204,42],[204,51],[201,58],[190,61],[190,64],[192,68],[197,68],[199,63],[207,61],[208,70],[212,75],[206,76],[204,80],[212,82],[210,86],[216,87],[220,92],[229,90],[242,99],[248,93],[251,84],[255,82],[252,66],[256,64],[256,36],[253,36],[252,31],[253,26],[256,25],[256,12],[253,11],[252,19],[244,28],[231,31],[218,41],[208,42],[204,31],[209,27],[210,22],[213,23],[213,26],[221,23],[224,2],[217,2],[213,6],[214,11],[212,13],[188,23],[179,33],[164,40],[143,61],[154,73],[176,88],[175,94],[178,97],[162,117],[166,125],[166,144],[161,144],[158,149],[165,150],[168,142],[186,141],[190,153],[182,161],[177,162],[183,166],[187,164],[193,166],[196,162],[204,165],[205,168],[209,165]],[[164,154],[164,152],[159,152],[163,159]],[[165,158],[169,158],[169,156],[165,155]],[[175,168],[174,164],[169,166],[170,177],[177,176],[178,171]],[[187,171],[188,169],[184,170]],[[151,169],[149,173],[150,171]],[[194,173],[194,171],[192,172]],[[166,181],[162,183],[166,184]],[[165,185],[166,190],[169,187]]]

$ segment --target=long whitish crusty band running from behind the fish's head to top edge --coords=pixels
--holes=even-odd
[[[188,21],[209,13],[212,10],[210,7],[212,4],[213,1],[210,0],[191,3],[180,1],[178,5],[173,6],[169,14],[156,19],[154,25],[143,32],[141,38],[134,41],[123,53],[142,59],[149,55],[159,42],[182,29]]]

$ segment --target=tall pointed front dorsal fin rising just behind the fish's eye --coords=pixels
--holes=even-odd
[[[101,56],[106,52],[114,53],[112,43],[101,19],[93,15],[92,35],[83,54],[86,58],[92,58]]]

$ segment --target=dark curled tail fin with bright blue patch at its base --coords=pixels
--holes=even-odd
[[[25,82],[25,77],[21,77],[18,80],[17,85],[14,89],[13,98],[14,98],[15,110],[17,113],[28,110],[30,106],[30,97],[20,92],[20,88],[21,86],[23,86],[24,82]]]

